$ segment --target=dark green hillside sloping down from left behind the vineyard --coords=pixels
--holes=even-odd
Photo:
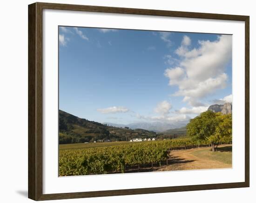
[[[83,143],[94,141],[127,141],[132,138],[153,138],[156,133],[143,129],[111,127],[81,119],[59,110],[59,143]]]

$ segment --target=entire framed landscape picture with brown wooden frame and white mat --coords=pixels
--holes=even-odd
[[[249,16],[28,6],[28,197],[249,187]]]

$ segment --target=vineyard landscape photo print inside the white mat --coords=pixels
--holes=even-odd
[[[232,35],[59,26],[59,176],[232,168]]]

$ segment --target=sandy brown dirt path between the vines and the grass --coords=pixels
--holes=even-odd
[[[222,163],[216,160],[200,159],[192,152],[210,149],[210,147],[203,147],[189,150],[177,150],[171,152],[170,165],[159,169],[159,171],[177,171],[177,170],[196,170],[196,169],[219,169],[231,168],[232,165]]]

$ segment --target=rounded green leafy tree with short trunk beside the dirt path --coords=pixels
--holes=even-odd
[[[232,140],[232,116],[212,111],[203,112],[190,120],[187,134],[193,140],[209,142],[215,152],[220,142]]]

